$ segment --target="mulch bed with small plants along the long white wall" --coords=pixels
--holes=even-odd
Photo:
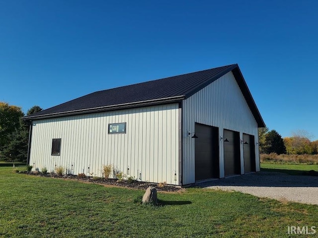
[[[84,182],[91,182],[91,183],[97,183],[97,184],[107,184],[107,185],[113,185],[113,186],[120,186],[120,187],[128,187],[128,188],[135,188],[135,189],[143,189],[146,190],[149,186],[154,186],[157,188],[158,191],[166,191],[166,192],[176,192],[181,190],[181,187],[176,187],[173,185],[166,185],[158,186],[158,183],[150,183],[150,182],[142,182],[142,181],[133,181],[128,182],[127,180],[118,181],[118,179],[105,179],[105,178],[99,178],[99,177],[79,177],[77,175],[62,175],[58,176],[57,174],[42,174],[42,173],[34,173],[27,171],[21,171],[19,172],[21,174],[27,174],[30,176],[38,176],[38,177],[46,177],[46,178],[59,178],[59,179],[71,179],[76,181],[84,181]]]

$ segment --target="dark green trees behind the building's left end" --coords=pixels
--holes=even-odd
[[[39,111],[42,108],[33,106],[26,116]],[[21,107],[0,102],[0,156],[5,161],[26,162],[30,127],[24,116]]]

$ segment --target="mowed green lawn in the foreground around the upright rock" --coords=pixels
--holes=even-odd
[[[188,188],[159,193],[34,177],[0,168],[0,237],[289,237],[288,226],[318,226],[318,206],[239,192]]]

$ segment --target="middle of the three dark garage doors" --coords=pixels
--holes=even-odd
[[[225,176],[240,175],[239,132],[224,130],[223,143]]]

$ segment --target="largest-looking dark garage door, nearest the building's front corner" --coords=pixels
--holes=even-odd
[[[195,123],[195,180],[220,178],[219,128]]]

